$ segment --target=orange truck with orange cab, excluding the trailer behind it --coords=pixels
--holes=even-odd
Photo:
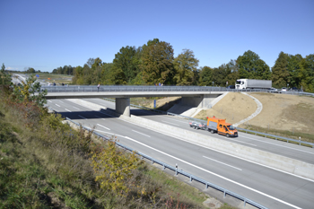
[[[231,124],[226,123],[226,119],[207,117],[206,129],[210,131],[212,134],[217,132],[218,134],[225,135],[227,137],[238,136],[237,129],[233,127]]]

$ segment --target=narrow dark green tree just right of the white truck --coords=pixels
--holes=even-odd
[[[279,53],[272,68],[272,81],[276,88],[282,88],[288,83],[288,55],[283,52]]]

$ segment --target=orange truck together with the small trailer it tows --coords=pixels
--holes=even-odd
[[[227,137],[230,136],[238,136],[238,131],[231,124],[226,123],[226,119],[220,118],[208,118],[207,124],[200,121],[189,121],[189,126],[195,129],[202,129],[210,131],[212,134],[218,133],[219,135],[225,135]]]

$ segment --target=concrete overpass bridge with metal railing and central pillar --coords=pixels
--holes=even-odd
[[[132,97],[182,97],[182,105],[209,108],[210,103],[226,91],[223,87],[210,86],[42,86],[47,99],[115,98],[118,114],[130,116]],[[261,90],[258,90],[261,91]]]

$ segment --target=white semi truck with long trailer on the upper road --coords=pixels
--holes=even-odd
[[[256,79],[238,79],[235,83],[235,88],[237,90],[270,89],[272,88],[272,81]]]

